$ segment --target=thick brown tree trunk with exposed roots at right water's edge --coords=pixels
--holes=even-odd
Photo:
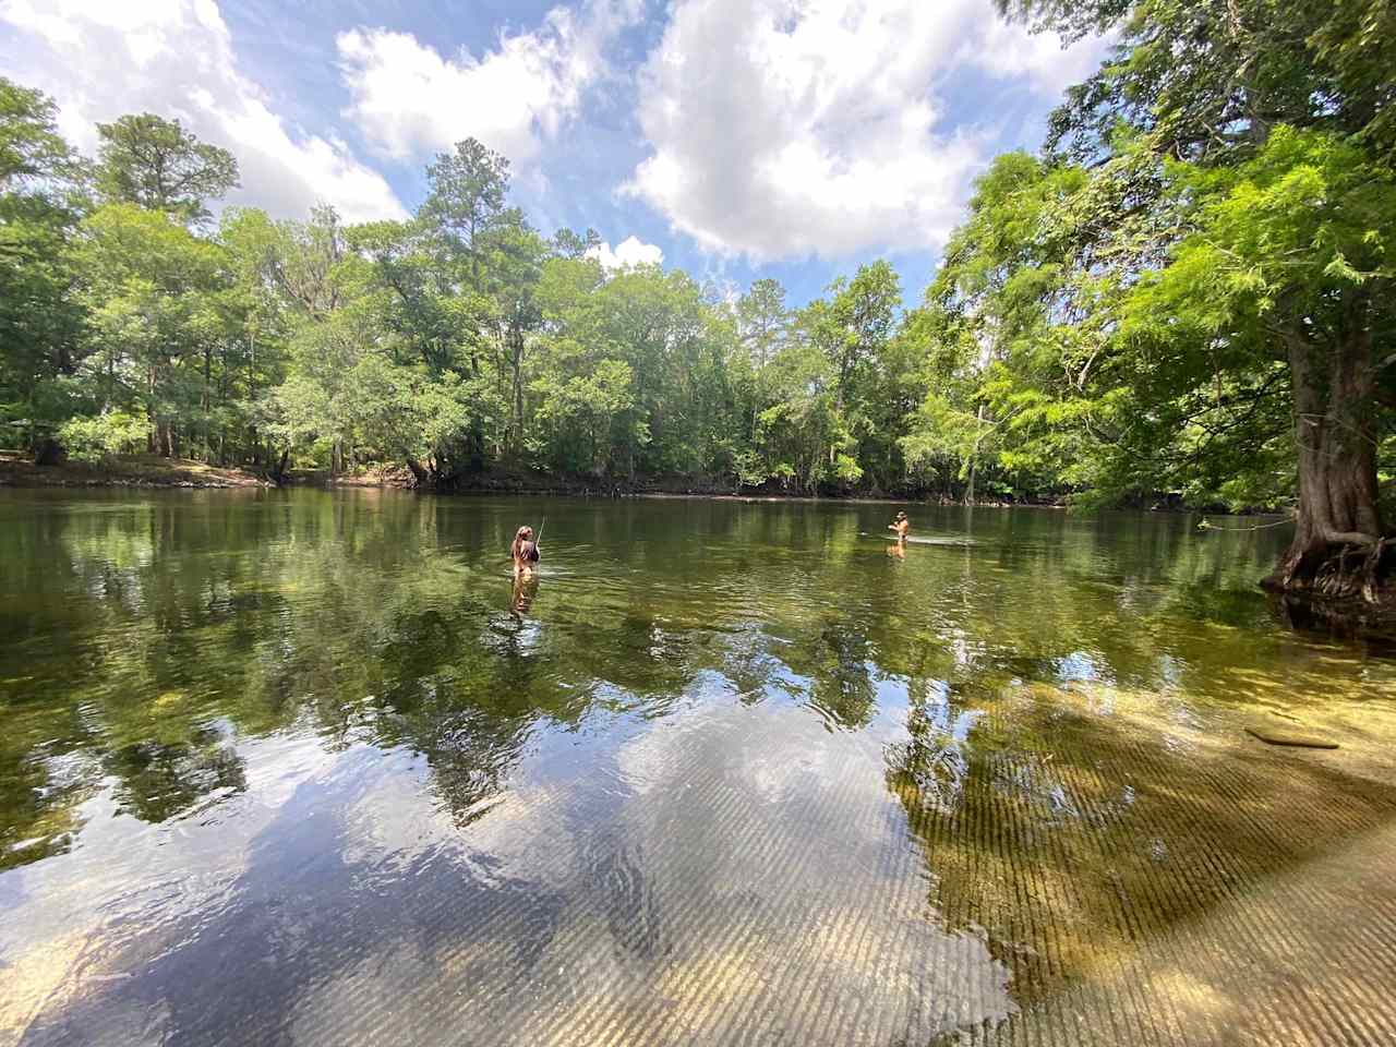
[[[1372,436],[1376,371],[1365,303],[1349,314],[1356,322],[1332,349],[1300,335],[1289,339],[1298,518],[1294,540],[1263,585],[1375,600],[1383,551]]]

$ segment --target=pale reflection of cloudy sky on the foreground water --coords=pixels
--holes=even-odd
[[[141,826],[113,817],[103,793],[84,812],[82,847],[6,877],[22,913],[0,940],[24,990],[8,1016],[63,987],[39,1043],[68,1027],[64,1015],[127,1033],[158,1012],[158,1027],[187,1033],[195,1019],[165,997],[163,966],[188,952],[201,970],[221,948],[233,967],[219,991],[247,1002],[248,977],[314,969],[278,1004],[310,1043],[332,1041],[346,1013],[376,1027],[385,1001],[417,1001],[430,1032],[441,994],[456,998],[455,1020],[515,1043],[642,1025],[635,1009],[655,993],[683,1015],[674,1033],[736,1036],[755,1022],[807,1037],[815,1013],[872,1008],[919,1041],[1001,1019],[1013,1009],[1007,970],[979,938],[926,919],[920,859],[881,779],[881,733],[711,697],[644,727],[623,715],[549,730],[466,825],[406,750],[250,740],[247,790],[197,822]],[[447,933],[420,923],[452,898]],[[257,955],[251,970],[233,959]],[[720,997],[701,991],[712,980]],[[607,1015],[588,1009],[597,994]],[[511,1012],[543,1025],[526,1036],[497,1025]]]

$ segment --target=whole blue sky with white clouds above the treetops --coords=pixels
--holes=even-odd
[[[1100,57],[990,0],[0,0],[0,74],[84,149],[176,116],[242,161],[232,202],[369,219],[475,135],[544,232],[793,303],[877,257],[916,300],[974,174]]]

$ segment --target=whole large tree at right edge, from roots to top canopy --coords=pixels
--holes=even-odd
[[[1062,209],[1057,228],[1069,233],[1054,237],[1062,250],[1048,279],[1100,321],[1096,402],[1138,401],[1104,433],[1106,472],[1128,476],[1131,458],[1177,458],[1180,445],[1240,463],[1238,447],[1272,447],[1263,423],[1279,415],[1269,405],[1280,387],[1293,413],[1297,528],[1270,582],[1375,599],[1386,536],[1376,448],[1390,423],[1381,349],[1390,339],[1389,6],[1000,6],[1068,35],[1118,39],[1068,92],[1050,137],[1090,166],[1071,174],[1086,184]],[[1092,202],[1108,205],[1089,215]],[[1018,264],[1013,276],[1037,272]],[[1104,293],[1092,306],[1093,285]],[[1161,307],[1178,315],[1164,322]],[[1057,311],[1034,341],[1076,341],[1074,328],[1089,328],[1078,320]],[[1101,370],[1114,371],[1113,385]],[[1089,417],[1062,420],[1086,427]],[[1276,455],[1255,461],[1269,468]]]

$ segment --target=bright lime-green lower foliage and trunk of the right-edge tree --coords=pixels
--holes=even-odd
[[[1251,388],[1279,387],[1287,369],[1300,496],[1276,578],[1287,588],[1333,546],[1376,549],[1385,533],[1376,450],[1396,394],[1382,348],[1396,331],[1396,172],[1347,140],[1280,126],[1245,163],[1174,176],[1191,230],[1127,297],[1122,335],[1192,362],[1178,377],[1203,395],[1208,364]]]

